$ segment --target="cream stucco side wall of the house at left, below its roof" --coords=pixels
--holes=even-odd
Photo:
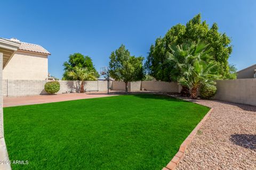
[[[47,55],[17,51],[3,70],[3,79],[45,80],[48,77]]]

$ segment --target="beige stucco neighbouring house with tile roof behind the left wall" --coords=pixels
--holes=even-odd
[[[14,53],[5,51],[3,79],[45,80],[48,77],[48,56],[51,53],[46,49],[40,45],[23,43],[15,38],[0,40],[19,46]]]

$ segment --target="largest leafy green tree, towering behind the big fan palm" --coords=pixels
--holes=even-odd
[[[145,63],[147,72],[162,81],[175,81],[179,72],[175,70],[175,64],[167,62],[166,53],[172,53],[169,46],[180,45],[187,42],[205,41],[213,49],[213,61],[217,62],[219,72],[223,79],[230,78],[228,58],[232,52],[230,38],[225,33],[218,31],[217,23],[210,28],[206,21],[201,21],[201,14],[196,15],[186,25],[174,25],[163,38],[157,38],[155,45],[151,45],[150,52]]]

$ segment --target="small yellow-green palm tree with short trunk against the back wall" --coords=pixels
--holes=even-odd
[[[80,92],[84,92],[84,81],[97,80],[94,72],[88,70],[86,67],[75,67],[74,70],[68,72],[68,76],[73,80],[79,80],[81,82]]]

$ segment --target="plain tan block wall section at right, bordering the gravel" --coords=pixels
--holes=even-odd
[[[256,106],[256,79],[219,80],[214,99]]]

